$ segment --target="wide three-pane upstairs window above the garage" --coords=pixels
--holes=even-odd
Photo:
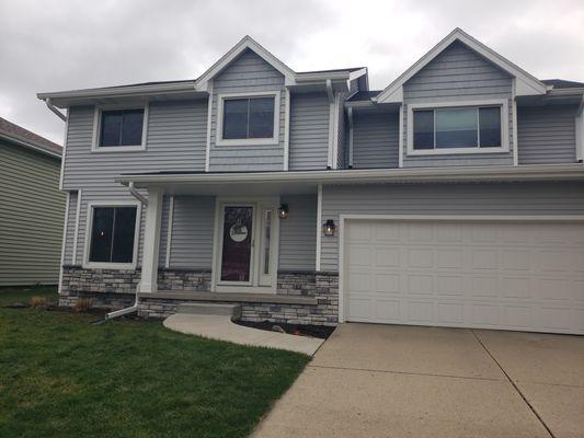
[[[502,148],[501,122],[501,106],[414,110],[413,150]]]

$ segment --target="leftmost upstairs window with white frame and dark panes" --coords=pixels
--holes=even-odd
[[[146,108],[96,108],[98,132],[93,150],[142,149]]]

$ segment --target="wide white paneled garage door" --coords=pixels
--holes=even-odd
[[[347,321],[584,334],[584,224],[347,220]]]

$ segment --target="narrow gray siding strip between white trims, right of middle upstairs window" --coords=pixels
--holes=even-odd
[[[291,95],[289,170],[327,169],[329,120],[330,105],[325,93]]]

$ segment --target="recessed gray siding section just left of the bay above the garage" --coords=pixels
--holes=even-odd
[[[353,168],[399,165],[399,114],[353,115]]]

